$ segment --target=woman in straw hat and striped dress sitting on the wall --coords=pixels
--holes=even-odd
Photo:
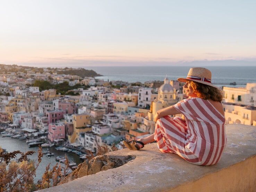
[[[211,71],[190,68],[184,88],[188,99],[157,111],[155,133],[137,141],[123,141],[129,149],[139,150],[147,143],[157,142],[161,152],[179,155],[196,165],[214,165],[226,146],[223,95],[211,83]],[[169,115],[182,114],[182,117]]]

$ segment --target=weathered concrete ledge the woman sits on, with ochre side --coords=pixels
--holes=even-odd
[[[230,124],[226,132],[227,147],[216,165],[190,164],[153,143],[108,154],[136,156],[123,166],[42,191],[256,191],[256,127]]]

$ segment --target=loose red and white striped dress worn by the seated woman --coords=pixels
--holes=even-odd
[[[196,165],[214,165],[226,146],[225,117],[202,98],[174,105],[185,116],[157,120],[154,139],[161,152],[173,152]]]

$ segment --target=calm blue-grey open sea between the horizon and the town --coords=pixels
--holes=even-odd
[[[84,67],[102,76],[105,81],[122,80],[127,82],[163,81],[186,77],[189,66],[123,66],[123,67]],[[256,66],[208,66],[212,72],[212,83],[219,87],[245,87],[246,83],[256,82]],[[230,83],[236,82],[236,85]]]

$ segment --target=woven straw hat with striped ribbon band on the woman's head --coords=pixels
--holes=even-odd
[[[196,81],[205,85],[218,88],[217,86],[212,84],[211,71],[203,67],[192,67],[188,71],[187,78],[178,78],[178,81],[180,82],[187,82],[187,80]]]

